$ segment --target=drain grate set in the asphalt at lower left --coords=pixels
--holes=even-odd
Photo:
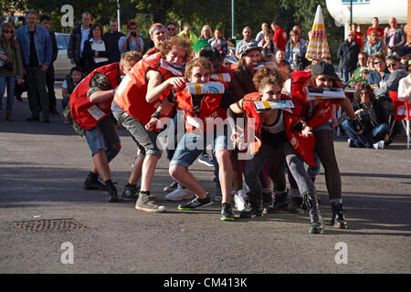
[[[60,231],[77,228],[87,228],[86,225],[79,223],[79,221],[74,218],[17,221],[12,222],[12,224],[17,229],[28,232]]]

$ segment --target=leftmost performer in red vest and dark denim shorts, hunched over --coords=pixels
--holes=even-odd
[[[69,99],[70,114],[84,131],[93,157],[93,166],[84,182],[86,190],[108,190],[109,202],[117,202],[117,188],[111,182],[109,162],[121,149],[116,121],[111,114],[114,90],[121,76],[142,58],[137,52],[128,52],[120,64],[96,68],[74,89]],[[104,182],[100,183],[99,176]]]

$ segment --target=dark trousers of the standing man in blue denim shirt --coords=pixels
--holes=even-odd
[[[28,106],[30,107],[32,117],[38,117],[40,111],[43,111],[43,119],[50,119],[50,106],[46,90],[46,72],[39,67],[27,67],[28,81]],[[41,109],[40,109],[41,106]]]

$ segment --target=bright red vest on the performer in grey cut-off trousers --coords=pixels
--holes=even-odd
[[[114,94],[114,102],[135,120],[139,120],[143,125],[151,120],[151,115],[160,106],[164,95],[148,103],[145,99],[147,94],[146,74],[149,70],[154,70],[162,75],[162,82],[174,75],[161,67],[162,57],[160,53],[143,58],[134,65],[132,70],[122,79],[119,88]],[[171,87],[170,87],[171,88]],[[170,117],[173,110],[168,110],[163,116]]]

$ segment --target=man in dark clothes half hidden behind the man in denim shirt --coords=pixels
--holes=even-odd
[[[46,73],[46,85],[47,85],[47,93],[48,93],[48,102],[50,104],[50,115],[54,117],[59,117],[60,114],[57,110],[56,104],[56,93],[54,92],[54,66],[53,63],[56,61],[58,57],[58,47],[57,47],[57,40],[56,35],[53,30],[50,29],[50,16],[40,16],[40,23],[39,26],[43,26],[48,30],[50,34],[51,40],[51,62],[50,66],[48,66],[47,73]]]

